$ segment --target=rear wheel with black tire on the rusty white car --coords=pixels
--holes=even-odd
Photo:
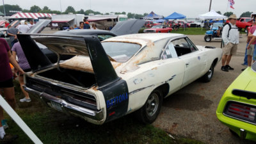
[[[163,93],[161,90],[154,90],[150,93],[144,106],[136,111],[138,120],[144,124],[151,124],[159,115],[163,103]]]

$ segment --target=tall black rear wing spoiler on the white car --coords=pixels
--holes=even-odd
[[[59,57],[60,54],[89,56],[99,88],[120,79],[97,36],[19,34],[17,37],[33,71],[52,66],[36,44],[39,42]]]

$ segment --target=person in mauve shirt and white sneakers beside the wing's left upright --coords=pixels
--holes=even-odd
[[[20,66],[20,68],[22,68],[22,70],[24,70],[24,72],[31,71],[28,60],[21,48],[20,42],[17,42],[13,45],[12,55],[14,58],[16,58],[16,56],[18,57],[19,66]],[[30,102],[31,99],[29,98],[29,94],[23,88],[23,86],[24,86],[23,74],[19,74],[19,83],[20,83],[20,88],[25,95],[25,97],[23,99],[20,99],[20,102]]]

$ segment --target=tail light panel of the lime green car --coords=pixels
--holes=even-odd
[[[256,124],[256,107],[238,102],[228,102],[225,112],[228,116],[234,116],[240,120]]]

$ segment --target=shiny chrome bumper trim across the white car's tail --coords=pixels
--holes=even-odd
[[[93,120],[103,120],[103,118],[104,118],[102,110],[93,111],[93,110],[90,110],[90,109],[83,108],[81,106],[76,106],[74,104],[70,104],[70,103],[66,102],[63,99],[59,99],[59,98],[54,97],[52,95],[49,95],[47,93],[38,92],[36,90],[28,88],[25,85],[23,86],[23,88],[24,88],[24,90],[26,90],[29,93],[38,95],[40,97],[40,99],[44,100],[44,102],[52,101],[52,102],[56,102],[56,103],[60,104],[61,109],[65,113],[72,112],[72,113],[76,113],[77,115],[79,115],[81,117],[85,116],[85,117],[88,117],[88,118],[92,118]]]

